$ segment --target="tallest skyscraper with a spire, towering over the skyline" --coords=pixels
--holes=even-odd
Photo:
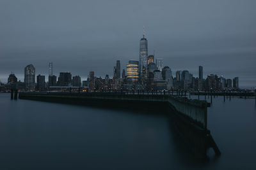
[[[148,62],[148,40],[145,38],[145,29],[143,29],[143,38],[140,39],[140,75],[143,66],[147,68]]]

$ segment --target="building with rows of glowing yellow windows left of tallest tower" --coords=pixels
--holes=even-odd
[[[127,82],[129,84],[138,83],[139,81],[139,61],[129,60],[126,65]]]

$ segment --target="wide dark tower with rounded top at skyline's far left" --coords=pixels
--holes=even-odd
[[[26,91],[35,91],[35,74],[36,69],[32,64],[29,64],[24,69],[24,83]]]

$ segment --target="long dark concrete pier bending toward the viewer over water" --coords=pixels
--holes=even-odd
[[[197,153],[206,156],[207,148],[213,148],[216,155],[220,150],[214,145],[210,131],[207,130],[207,101],[198,101],[186,97],[169,95],[143,95],[125,93],[20,93],[19,99],[38,101],[83,104],[87,106],[107,106],[122,108],[150,108],[156,106],[167,108],[170,117],[175,120],[175,126],[189,144],[196,148]],[[159,113],[157,113],[159,114]]]

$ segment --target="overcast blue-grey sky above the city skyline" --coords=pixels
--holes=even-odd
[[[239,76],[241,86],[256,86],[256,1],[88,1],[0,0],[0,80],[24,67],[48,76],[70,71],[86,78],[113,76],[139,60],[143,25],[148,53],[175,71],[188,69],[204,78],[214,73]]]

